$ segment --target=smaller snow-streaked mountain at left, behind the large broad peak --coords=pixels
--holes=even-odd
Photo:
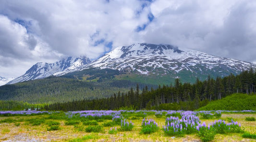
[[[7,84],[14,84],[18,82],[23,82],[27,80],[41,79],[48,76],[52,76],[56,72],[68,72],[69,70],[74,70],[79,66],[83,66],[91,63],[92,61],[86,56],[80,57],[67,57],[61,61],[55,63],[42,63],[39,62],[32,66],[26,73],[19,76]]]

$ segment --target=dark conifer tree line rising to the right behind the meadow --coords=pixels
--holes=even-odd
[[[183,109],[195,110],[209,101],[218,100],[233,93],[255,94],[256,72],[253,69],[242,71],[239,75],[230,74],[216,79],[208,76],[205,81],[196,80],[194,84],[183,83],[179,78],[174,84],[158,88],[139,85],[127,92],[114,93],[109,98],[73,100],[46,105],[46,110],[89,110],[89,109]]]

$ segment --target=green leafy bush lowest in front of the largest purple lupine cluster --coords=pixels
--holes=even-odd
[[[212,141],[215,137],[215,131],[213,127],[199,127],[198,136],[202,140],[202,142]]]

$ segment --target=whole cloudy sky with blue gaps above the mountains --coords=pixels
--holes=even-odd
[[[256,63],[256,0],[0,0],[3,77],[133,43]]]

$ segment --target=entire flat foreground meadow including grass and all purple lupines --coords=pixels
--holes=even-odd
[[[0,111],[1,142],[255,142],[256,111]]]

